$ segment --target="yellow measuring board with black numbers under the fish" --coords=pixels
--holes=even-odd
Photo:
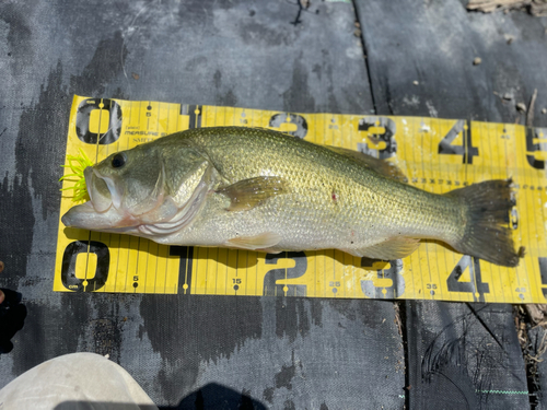
[[[392,261],[339,250],[266,255],[165,246],[128,235],[67,229],[59,221],[54,290],[463,302],[546,303],[547,129],[457,119],[296,114],[74,96],[67,155],[98,162],[113,152],[195,127],[263,127],[389,160],[408,184],[446,192],[512,177],[508,215],[526,256],[503,268],[423,242]],[[69,174],[70,171],[66,171]],[[63,187],[73,183],[63,181]],[[60,215],[73,206],[63,197]]]

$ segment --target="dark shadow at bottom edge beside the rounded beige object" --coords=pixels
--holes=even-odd
[[[79,410],[89,409],[90,405],[93,408],[105,410],[121,410],[121,409],[139,409],[152,410],[152,406],[135,405],[135,403],[105,403],[105,402],[90,402],[90,401],[65,401],[55,407],[55,410]],[[219,385],[217,383],[209,383],[200,389],[190,393],[183,398],[178,406],[160,406],[160,410],[266,410],[267,407],[260,401],[252,398],[245,393],[240,393],[230,387]]]

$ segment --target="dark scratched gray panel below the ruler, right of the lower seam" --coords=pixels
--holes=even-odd
[[[407,302],[407,338],[414,408],[529,407],[510,305]]]

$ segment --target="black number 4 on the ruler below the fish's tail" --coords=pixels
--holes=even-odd
[[[449,279],[446,279],[449,292],[472,293],[474,302],[485,302],[485,293],[490,293],[490,286],[488,283],[482,282],[479,260],[479,258],[473,257],[472,263],[472,257],[469,255],[464,255],[462,259],[459,259],[450,273]],[[469,269],[470,280],[469,282],[462,282],[459,278],[462,278],[466,269]]]

